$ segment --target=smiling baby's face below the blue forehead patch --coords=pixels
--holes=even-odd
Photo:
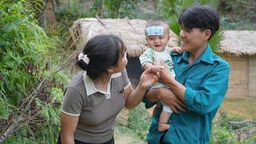
[[[157,51],[164,50],[169,42],[169,39],[170,36],[166,33],[163,35],[146,36],[147,45],[150,46],[150,48]]]

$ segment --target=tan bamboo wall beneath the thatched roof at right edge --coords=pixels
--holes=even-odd
[[[222,54],[230,64],[230,82],[226,98],[256,98],[256,58]]]

